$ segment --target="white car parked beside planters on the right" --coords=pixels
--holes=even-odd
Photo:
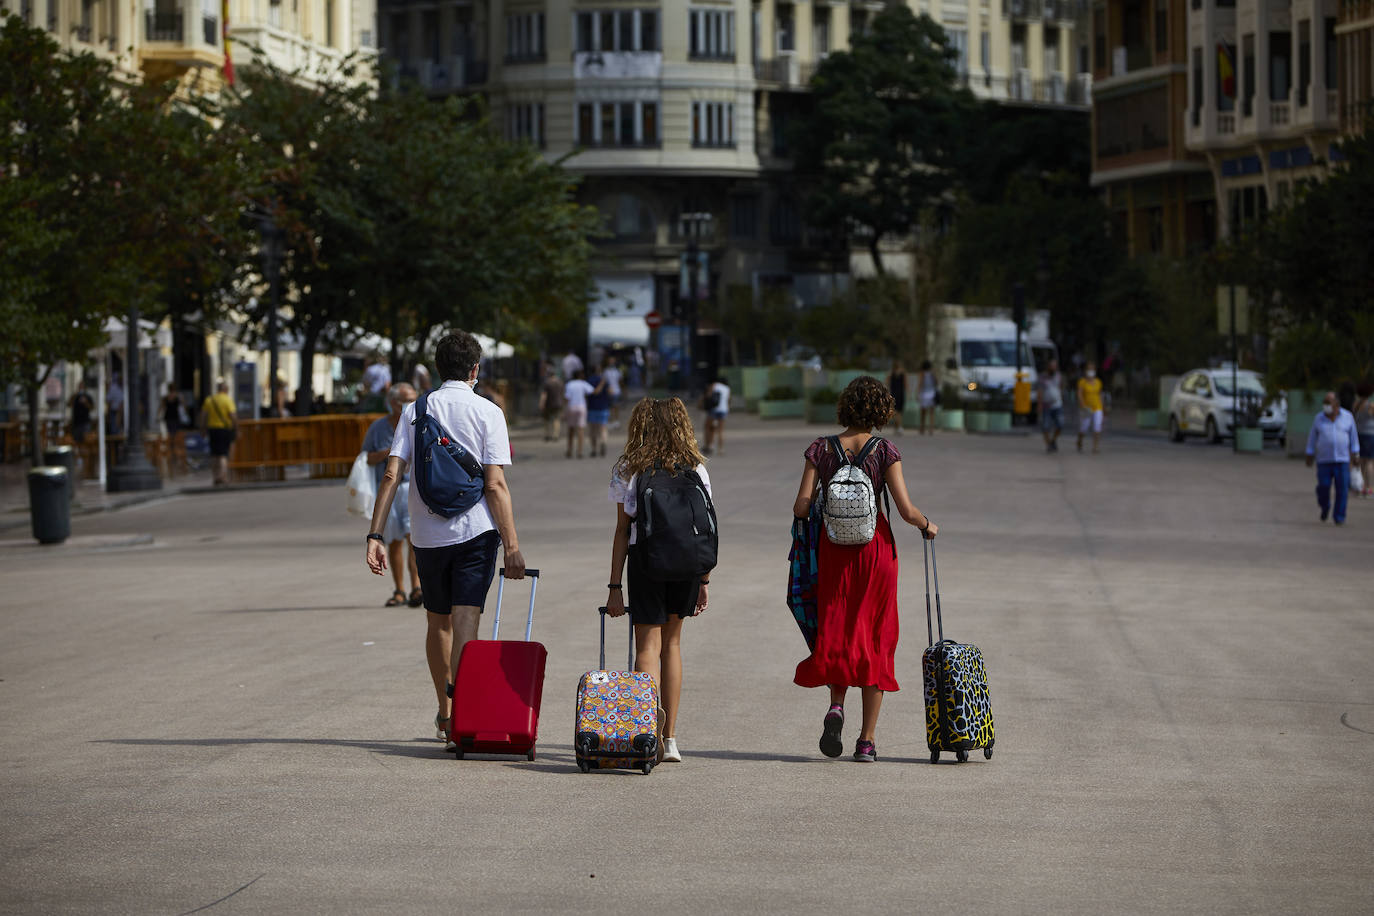
[[[1238,402],[1242,422],[1246,412],[1253,412],[1264,438],[1283,444],[1287,435],[1287,398],[1282,394],[1268,398],[1264,376],[1250,369],[1237,371],[1235,382],[1238,391],[1232,397],[1230,365],[1184,372],[1169,398],[1169,438],[1182,442],[1186,435],[1202,435],[1209,442],[1220,442],[1235,428],[1232,404]]]

